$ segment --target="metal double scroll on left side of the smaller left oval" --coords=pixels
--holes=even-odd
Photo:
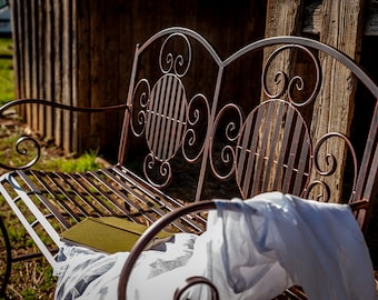
[[[141,137],[146,130],[147,106],[151,89],[147,79],[138,81],[132,94],[132,109],[130,110],[130,126],[136,137]]]

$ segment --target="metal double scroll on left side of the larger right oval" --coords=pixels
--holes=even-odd
[[[216,118],[210,142],[210,166],[212,173],[220,180],[229,179],[235,172],[235,143],[242,120],[241,109],[233,103],[225,106]]]

